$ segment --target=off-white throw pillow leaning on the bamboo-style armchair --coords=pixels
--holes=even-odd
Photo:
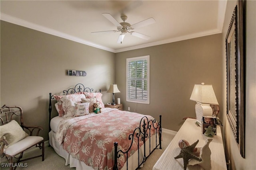
[[[27,136],[29,136],[28,133],[26,133],[15,120],[0,126],[0,137],[6,137],[6,141],[9,144],[8,146],[13,145]]]

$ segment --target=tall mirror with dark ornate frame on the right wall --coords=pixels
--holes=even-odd
[[[227,118],[242,157],[245,157],[245,1],[238,1],[226,35]]]

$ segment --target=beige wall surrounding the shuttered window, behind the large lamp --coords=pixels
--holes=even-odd
[[[194,84],[212,84],[222,104],[222,35],[210,35],[116,54],[116,83],[124,109],[162,115],[162,127],[178,131],[183,117],[195,117]],[[126,58],[150,55],[150,104],[126,102]],[[223,111],[220,111],[220,115]]]

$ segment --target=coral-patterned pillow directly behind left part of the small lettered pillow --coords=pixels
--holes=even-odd
[[[62,108],[64,110],[63,117],[70,117],[75,114],[75,103],[82,103],[81,98],[84,98],[84,94],[71,94],[62,96],[60,100],[62,101]]]

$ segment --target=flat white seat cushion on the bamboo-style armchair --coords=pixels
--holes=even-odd
[[[22,150],[26,150],[32,146],[34,146],[36,143],[44,140],[43,137],[40,136],[28,136],[24,139],[18,141],[17,143],[13,144],[12,146],[8,147],[4,150],[5,154],[8,154],[10,156],[14,156],[21,152]]]

